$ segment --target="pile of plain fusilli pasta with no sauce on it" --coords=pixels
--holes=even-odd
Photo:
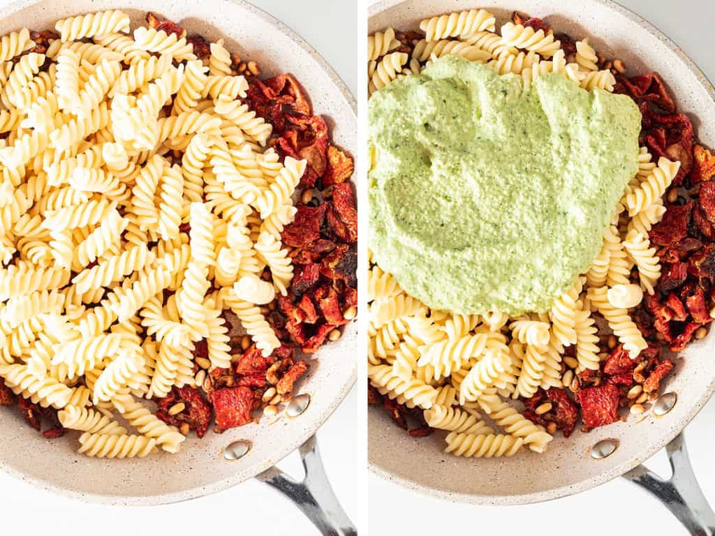
[[[265,149],[222,40],[204,64],[122,11],[55,28],[46,54],[27,29],[0,41],[0,377],[79,452],[177,452],[139,399],[194,385],[202,339],[230,366],[223,309],[280,345],[260,305],[292,279],[280,232],[306,163]]]

